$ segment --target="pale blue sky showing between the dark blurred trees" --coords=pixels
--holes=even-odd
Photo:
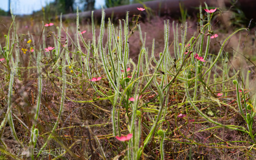
[[[15,15],[24,15],[31,14],[33,11],[41,10],[42,7],[45,7],[46,4],[53,2],[54,0],[11,0],[11,8],[13,14]],[[75,0],[79,2],[80,0]],[[8,11],[8,0],[0,0],[0,8]],[[101,5],[105,4],[105,0],[96,0],[95,8],[101,8]],[[76,7],[74,7],[76,8]]]

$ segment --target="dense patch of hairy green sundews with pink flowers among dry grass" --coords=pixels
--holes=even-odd
[[[12,15],[0,46],[1,158],[255,157],[255,65],[244,50],[225,48],[234,35],[246,39],[249,27],[218,39],[215,51],[219,9],[204,8],[190,37],[187,22],[164,21],[161,53],[155,39],[146,46],[140,14],[113,24],[102,9],[97,33],[93,12],[89,30],[80,30],[77,9],[75,26],[65,27],[62,16],[36,24],[40,37],[19,34]],[[136,60],[129,56],[134,34]],[[253,68],[237,69],[235,57]]]

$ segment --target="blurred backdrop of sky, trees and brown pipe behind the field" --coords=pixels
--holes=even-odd
[[[62,13],[65,18],[73,19],[76,8],[83,12],[80,18],[90,18],[92,10],[95,18],[101,18],[101,7],[106,8],[106,16],[111,20],[121,19],[125,11],[130,15],[138,14],[136,7],[146,8],[144,16],[163,17],[179,19],[184,22],[186,19],[198,18],[198,6],[207,2],[209,7],[217,7],[222,11],[228,11],[228,18],[233,24],[248,25],[251,18],[256,19],[255,0],[0,0],[0,16],[10,15],[10,9],[14,15],[19,17],[32,16],[38,20],[51,21],[59,18]],[[114,8],[112,8],[114,7]],[[203,5],[204,7],[204,5]],[[107,9],[109,8],[109,9]],[[74,14],[72,14],[74,13]],[[69,14],[69,15],[67,15]],[[29,16],[27,16],[29,15]],[[143,15],[142,15],[143,16]],[[41,19],[43,17],[44,19]],[[234,19],[234,17],[236,17]],[[0,17],[1,20],[2,17]],[[233,19],[232,19],[233,18]],[[254,22],[254,21],[253,21]],[[252,23],[254,26],[255,23]]]

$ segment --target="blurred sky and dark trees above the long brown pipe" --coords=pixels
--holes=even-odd
[[[1,0],[0,14],[8,15],[9,6],[15,15],[35,14],[42,10],[42,7],[50,8],[55,14],[65,14],[74,12],[76,6],[80,11],[90,11],[100,9],[101,6],[115,7],[145,1],[150,0]]]

